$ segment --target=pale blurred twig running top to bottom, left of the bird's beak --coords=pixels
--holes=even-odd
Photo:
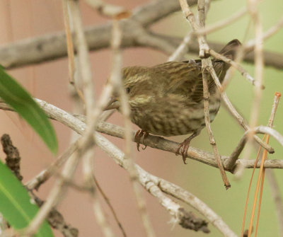
[[[93,180],[93,149],[91,134],[93,133],[94,126],[98,120],[98,115],[100,115],[101,106],[94,106],[94,88],[92,82],[91,73],[91,62],[88,56],[88,46],[86,43],[86,36],[83,32],[83,24],[81,20],[81,13],[79,10],[79,1],[71,0],[70,8],[74,19],[74,29],[77,37],[77,48],[79,51],[79,66],[81,71],[81,79],[83,81],[83,93],[86,98],[86,132],[83,134],[81,143],[79,144],[79,150],[81,155],[83,155],[83,177],[87,187],[90,188],[91,198],[93,200],[93,213],[96,216],[96,221],[103,231],[105,237],[112,237],[114,233],[108,223],[105,213],[98,200],[98,195],[96,193],[96,186]],[[77,157],[79,158],[79,157]]]

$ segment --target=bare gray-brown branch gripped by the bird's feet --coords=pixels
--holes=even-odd
[[[73,129],[75,132],[78,132],[79,134],[82,134],[83,131],[86,129],[85,123],[78,123],[76,119],[76,117],[78,117],[81,120],[85,120],[85,118],[82,117],[82,115],[76,115],[76,117],[74,117],[70,115],[68,112],[65,112],[64,110],[61,110],[56,106],[51,105],[43,100],[39,100],[39,99],[35,99],[35,100],[40,105],[40,107],[43,110],[45,110],[47,116],[50,117],[52,120],[57,120],[59,122],[62,122],[62,124]],[[0,103],[0,109],[13,111],[11,108],[8,107],[8,105],[6,105],[3,102]],[[108,134],[110,136],[119,137],[121,139],[125,137],[125,129],[117,125],[112,125],[108,122],[98,122],[96,131],[102,132],[104,134]],[[135,132],[132,132],[132,141],[135,141],[134,134]],[[175,154],[175,151],[179,145],[178,142],[170,141],[168,139],[164,139],[163,137],[152,136],[150,134],[144,139],[144,141],[141,141],[140,143],[146,146],[151,146],[152,148],[155,149],[169,151],[173,154]],[[218,167],[213,154],[207,151],[202,151],[200,149],[194,148],[192,146],[190,146],[187,151],[187,158],[191,158],[195,161],[205,163],[209,166],[213,166],[216,168]],[[224,161],[226,161],[227,158],[229,157],[221,156],[222,162],[225,163]],[[241,163],[245,168],[253,168],[253,164],[255,163],[255,161],[238,160],[236,162],[236,165],[238,165],[238,163]],[[225,170],[232,172],[232,170],[227,169],[226,166],[224,166],[224,168]],[[256,168],[259,168],[258,164]],[[283,168],[283,160],[265,161],[265,168]]]

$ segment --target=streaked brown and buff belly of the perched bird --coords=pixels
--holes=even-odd
[[[214,120],[220,102],[209,103],[209,119]],[[132,122],[151,134],[165,137],[189,134],[205,127],[203,103],[178,108],[161,108],[159,111],[132,114]]]

